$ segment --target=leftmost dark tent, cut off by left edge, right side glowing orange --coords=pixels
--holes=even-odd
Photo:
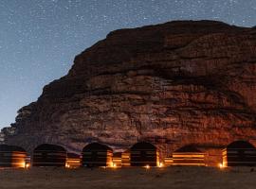
[[[26,167],[27,152],[20,146],[0,145],[0,167]]]

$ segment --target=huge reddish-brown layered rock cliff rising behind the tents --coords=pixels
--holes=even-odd
[[[210,156],[238,139],[256,145],[255,93],[254,28],[184,21],[121,29],[46,85],[5,140],[74,151],[95,141],[115,149],[149,141],[162,156],[195,144]]]

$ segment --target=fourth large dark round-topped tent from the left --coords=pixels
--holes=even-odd
[[[137,143],[130,149],[131,166],[157,166],[158,151],[157,148],[150,143]]]

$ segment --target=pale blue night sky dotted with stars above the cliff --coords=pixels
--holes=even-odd
[[[0,129],[111,30],[173,20],[256,26],[256,0],[0,0]]]

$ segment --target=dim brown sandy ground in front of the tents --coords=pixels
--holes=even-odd
[[[256,168],[0,169],[1,189],[255,189]]]

